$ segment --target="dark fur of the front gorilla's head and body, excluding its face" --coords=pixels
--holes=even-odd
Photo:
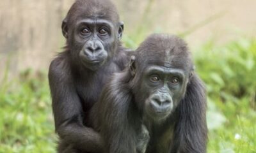
[[[205,153],[205,87],[193,70],[186,43],[176,36],[152,34],[141,43],[135,57],[136,71],[132,73],[126,68],[115,73],[90,113],[90,124],[100,131],[106,152],[144,152],[146,144],[146,153]],[[185,89],[166,119],[152,120],[143,109],[148,95],[141,94],[141,74],[147,66],[164,62],[171,63],[171,68],[184,70]],[[146,130],[142,128],[144,125]],[[142,131],[148,132],[149,137],[146,134],[141,142]]]

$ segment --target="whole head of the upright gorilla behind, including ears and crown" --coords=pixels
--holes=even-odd
[[[91,3],[78,1],[77,6],[73,6],[76,10],[71,8],[68,12],[62,29],[69,47],[75,50],[73,59],[94,71],[115,54],[111,51],[115,50],[124,25],[118,22],[118,15],[115,10],[109,10],[106,1]]]

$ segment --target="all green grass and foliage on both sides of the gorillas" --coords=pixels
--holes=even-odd
[[[127,43],[127,42],[126,42]],[[128,42],[129,43],[129,42]],[[256,39],[192,50],[208,91],[208,152],[256,152]],[[0,153],[54,152],[46,73],[25,71],[0,81]]]

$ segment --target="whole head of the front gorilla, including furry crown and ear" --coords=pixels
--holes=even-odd
[[[130,64],[134,82],[139,84],[134,86],[136,103],[147,117],[156,121],[166,119],[177,107],[186,92],[192,68],[186,44],[173,39],[159,34],[150,36]],[[147,43],[155,41],[159,43]],[[184,58],[188,63],[182,63]]]

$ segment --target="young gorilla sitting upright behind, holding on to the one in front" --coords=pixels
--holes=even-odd
[[[103,152],[99,133],[85,126],[85,118],[109,77],[129,62],[120,44],[123,30],[108,0],[77,0],[63,20],[67,46],[49,68],[58,152]]]

